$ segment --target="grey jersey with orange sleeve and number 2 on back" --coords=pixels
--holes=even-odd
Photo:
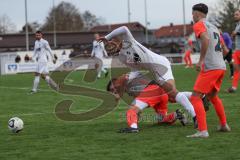
[[[200,44],[199,38],[201,33],[207,31],[209,37],[209,46],[204,58],[203,70],[226,70],[226,64],[223,60],[223,53],[221,48],[220,32],[217,27],[204,19],[195,23],[193,29],[196,34],[198,44]]]

